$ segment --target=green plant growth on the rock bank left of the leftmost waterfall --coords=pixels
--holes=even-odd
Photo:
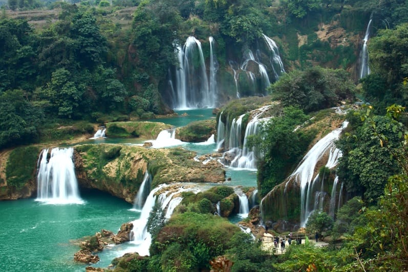
[[[39,149],[36,146],[17,147],[10,153],[6,165],[7,184],[22,188],[35,179]]]

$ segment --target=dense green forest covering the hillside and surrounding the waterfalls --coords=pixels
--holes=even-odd
[[[285,180],[310,147],[314,135],[297,126],[341,102],[358,101],[336,143],[343,155],[336,175],[349,201],[334,219],[315,212],[306,225],[310,233],[332,237],[327,248],[306,243],[283,255],[263,251],[248,234],[209,214],[211,203],[231,194],[220,186],[185,194],[168,222],[156,207],[148,222],[151,256],[116,262],[118,271],[207,271],[209,260],[213,269],[221,266],[214,271],[408,269],[408,1],[0,5],[1,150],[93,133],[95,124],[173,113],[168,82],[181,65],[177,47],[190,36],[203,45],[210,44],[209,36],[216,40],[217,107],[238,96],[231,63],[240,63],[250,48],[262,49],[263,35],[280,49],[285,73],[273,77],[268,70],[271,84],[260,92],[241,85],[242,96],[270,94],[282,106],[248,143],[265,154],[257,174],[261,197]],[[371,20],[370,73],[360,79],[359,54]],[[207,47],[203,56],[209,62]]]

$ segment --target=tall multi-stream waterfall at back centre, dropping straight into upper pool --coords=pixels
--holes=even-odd
[[[214,40],[210,39],[212,52]],[[183,49],[177,46],[180,67],[176,71],[176,109],[213,108],[216,105],[217,61],[210,56],[210,82],[208,82],[201,42],[188,37]],[[212,61],[211,61],[212,59]]]

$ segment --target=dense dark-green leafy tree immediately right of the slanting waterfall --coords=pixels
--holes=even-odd
[[[343,154],[338,164],[339,181],[345,182],[349,193],[363,192],[368,201],[376,201],[383,194],[388,177],[399,170],[389,151],[389,148],[399,146],[399,132],[387,125],[388,117],[373,116],[372,120],[378,133],[388,139],[387,146],[378,146],[379,140],[373,137],[372,125],[368,122],[356,127],[353,136],[345,137],[337,144]]]

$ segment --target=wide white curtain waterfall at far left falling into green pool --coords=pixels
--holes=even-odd
[[[49,204],[82,204],[75,176],[74,149],[55,147],[47,160],[48,151],[44,149],[40,154],[36,201]]]

